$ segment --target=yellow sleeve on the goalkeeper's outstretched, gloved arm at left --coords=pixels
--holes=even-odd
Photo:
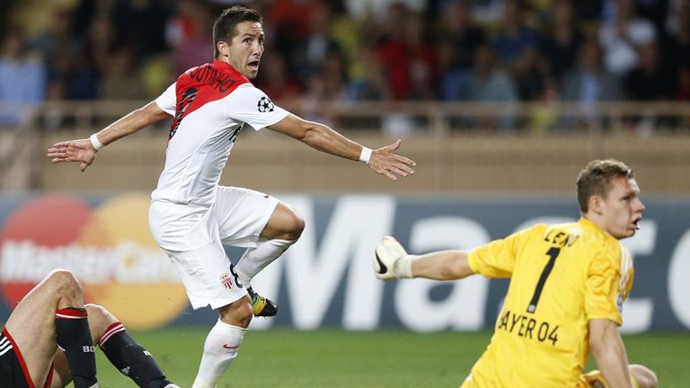
[[[487,278],[510,278],[517,259],[517,248],[530,233],[532,228],[473,249],[467,257],[470,269]]]

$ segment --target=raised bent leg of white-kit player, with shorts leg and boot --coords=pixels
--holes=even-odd
[[[277,198],[242,188],[218,188],[215,212],[223,243],[247,247],[235,270],[252,297],[254,314],[275,315],[276,305],[253,292],[252,278],[296,242],[304,220]]]

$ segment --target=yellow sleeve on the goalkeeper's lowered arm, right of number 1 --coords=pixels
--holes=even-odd
[[[603,249],[590,262],[585,284],[585,313],[588,320],[607,319],[621,325],[624,294],[630,290],[632,281],[629,283],[621,278],[624,253],[621,257],[614,256],[612,250]]]

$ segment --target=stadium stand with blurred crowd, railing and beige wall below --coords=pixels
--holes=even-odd
[[[265,15],[257,86],[367,143],[405,138],[420,169],[396,190],[561,191],[570,186],[560,177],[610,155],[650,172],[645,192],[690,191],[687,0],[243,3]],[[227,4],[9,2],[0,28],[0,76],[12,80],[0,83],[3,190],[150,190],[167,128],[126,140],[128,152],[100,154],[99,175],[109,178],[97,185],[70,179],[69,166],[48,169],[42,150],[66,132],[88,135],[207,62],[213,15]],[[283,139],[267,145],[268,136],[243,135],[226,179],[341,191],[329,169],[357,168]],[[386,187],[365,178],[344,190]]]

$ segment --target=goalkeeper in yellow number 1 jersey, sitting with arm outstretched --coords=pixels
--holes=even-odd
[[[463,388],[657,386],[650,369],[628,365],[618,332],[634,274],[619,240],[642,218],[637,182],[624,163],[597,160],[577,190],[577,223],[535,225],[468,252],[411,255],[393,237],[376,247],[381,279],[510,278],[491,344]],[[583,375],[590,350],[599,370]]]

